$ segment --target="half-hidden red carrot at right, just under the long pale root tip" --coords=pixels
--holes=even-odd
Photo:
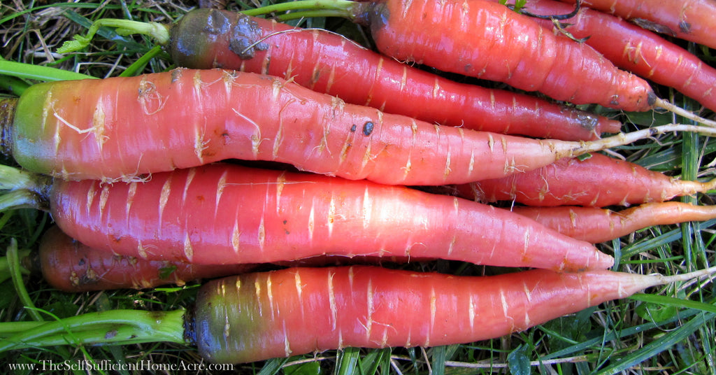
[[[716,189],[716,179],[674,179],[635,163],[594,153],[581,161],[565,158],[523,174],[458,186],[458,196],[529,206],[607,207],[667,201],[712,189]]]

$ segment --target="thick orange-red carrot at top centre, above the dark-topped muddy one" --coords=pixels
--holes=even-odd
[[[362,3],[377,48],[401,61],[505,82],[571,103],[652,109],[641,78],[591,47],[558,38],[507,6],[483,0]],[[420,27],[416,27],[420,25]]]

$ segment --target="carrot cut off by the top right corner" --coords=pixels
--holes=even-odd
[[[574,0],[561,0],[574,4]],[[713,16],[716,4],[710,0],[584,0],[582,5],[620,16],[647,29],[716,48]]]

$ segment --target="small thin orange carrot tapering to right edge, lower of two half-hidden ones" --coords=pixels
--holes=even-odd
[[[716,219],[714,206],[695,206],[678,201],[645,203],[621,211],[566,206],[513,207],[512,210],[557,232],[593,244],[654,225]]]

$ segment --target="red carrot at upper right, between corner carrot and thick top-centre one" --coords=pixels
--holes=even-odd
[[[645,6],[656,4],[651,1]],[[526,4],[526,9],[533,14],[569,14],[572,8],[569,4],[552,0],[530,0]],[[544,27],[554,28],[548,19],[536,21]],[[677,44],[617,16],[594,9],[581,8],[577,16],[561,22],[566,24],[564,29],[574,37],[588,37],[586,44],[621,69],[673,87],[705,107],[716,110],[716,69]]]

